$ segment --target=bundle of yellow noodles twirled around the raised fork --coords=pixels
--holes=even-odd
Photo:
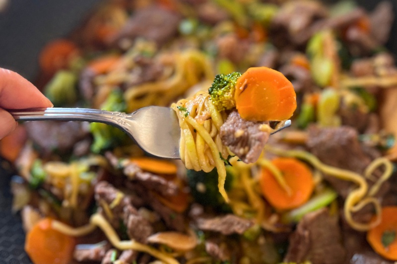
[[[219,192],[229,202],[224,189],[226,167],[221,159],[227,157],[229,152],[219,135],[225,116],[216,110],[208,93],[203,91],[171,107],[176,111],[181,127],[179,153],[186,168],[209,172],[216,167]]]

